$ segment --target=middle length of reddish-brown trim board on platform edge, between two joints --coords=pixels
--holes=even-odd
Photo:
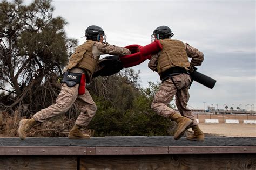
[[[95,155],[168,154],[168,147],[96,147]]]

